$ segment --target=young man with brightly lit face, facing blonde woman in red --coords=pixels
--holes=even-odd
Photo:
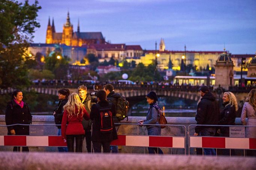
[[[92,97],[90,95],[87,95],[87,87],[84,85],[81,85],[78,87],[78,94],[80,96],[81,102],[84,104],[85,109],[87,113],[90,115],[92,105],[95,103],[92,103]],[[92,120],[89,119],[86,121],[83,119],[82,121],[84,130],[85,130],[85,140],[86,140],[86,149],[87,152],[90,153],[92,152],[91,148],[91,126],[92,126]]]

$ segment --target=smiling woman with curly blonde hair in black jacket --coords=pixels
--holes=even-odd
[[[222,99],[224,109],[220,112],[218,124],[235,125],[236,111],[238,110],[236,97],[232,92],[224,92]],[[229,127],[221,127],[220,136],[229,137]],[[221,149],[221,151],[223,155],[230,155],[229,149]],[[231,150],[231,154],[234,155],[235,151]]]

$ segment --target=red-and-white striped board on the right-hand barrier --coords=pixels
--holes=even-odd
[[[255,138],[190,136],[191,148],[256,149]]]

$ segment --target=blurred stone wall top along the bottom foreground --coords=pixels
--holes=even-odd
[[[253,170],[255,166],[255,158],[249,157],[0,152],[4,170]]]

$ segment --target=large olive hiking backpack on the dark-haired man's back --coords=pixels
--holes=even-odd
[[[128,108],[129,108],[129,101],[125,99],[125,97],[121,96],[117,98],[117,106],[116,106],[116,117],[119,121],[123,119],[127,119],[128,121]]]

